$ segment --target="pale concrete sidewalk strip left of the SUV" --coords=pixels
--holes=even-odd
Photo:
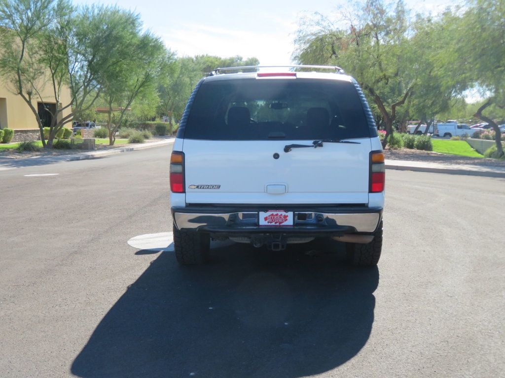
[[[2,159],[0,160],[0,171],[14,168],[31,167],[37,165],[46,165],[53,163],[60,163],[63,161],[74,161],[74,160],[86,160],[86,159],[97,159],[110,155],[122,154],[124,152],[145,150],[147,148],[159,147],[174,143],[175,138],[167,139],[160,142],[151,142],[137,144],[129,147],[119,147],[110,150],[103,151],[89,151],[76,153],[71,155],[58,155],[58,156],[36,156],[26,159]]]

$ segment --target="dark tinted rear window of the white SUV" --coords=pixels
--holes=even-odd
[[[370,137],[352,83],[313,79],[244,79],[203,83],[184,138],[316,140]]]

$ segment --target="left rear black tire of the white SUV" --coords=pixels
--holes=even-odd
[[[204,264],[209,255],[211,237],[196,231],[181,231],[174,226],[174,249],[181,265]]]

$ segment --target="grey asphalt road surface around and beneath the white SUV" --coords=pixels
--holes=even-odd
[[[0,172],[0,376],[505,375],[504,179],[387,171],[378,268],[336,242],[181,268],[126,243],[171,229],[169,153]]]

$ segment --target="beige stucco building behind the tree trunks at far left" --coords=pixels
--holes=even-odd
[[[32,105],[38,110],[39,116],[44,125],[48,126],[51,123],[51,113],[46,111],[42,103],[45,103],[48,108],[56,109],[55,96],[51,85],[45,85],[45,88],[40,92],[42,99],[34,98]],[[70,89],[64,87],[60,95],[60,106],[65,106],[70,102]],[[60,116],[66,116],[71,112],[68,107]],[[71,124],[68,125],[71,127]],[[31,111],[28,104],[21,96],[13,94],[9,91],[7,84],[0,77],[0,129],[11,128],[17,131],[36,130],[38,133],[37,120]]]

